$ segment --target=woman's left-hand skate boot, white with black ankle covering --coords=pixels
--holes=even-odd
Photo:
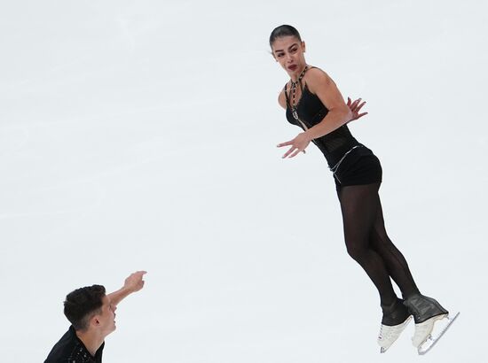
[[[391,344],[395,343],[398,336],[402,334],[402,331],[412,320],[412,316],[403,302],[402,299],[397,298],[397,301],[391,305],[382,305],[382,328],[380,328],[378,335],[381,353],[388,351]]]

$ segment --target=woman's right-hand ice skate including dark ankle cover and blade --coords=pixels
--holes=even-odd
[[[425,354],[429,351],[459,315],[459,313],[456,313],[453,318],[450,318],[447,310],[437,300],[421,294],[408,297],[404,304],[408,307],[410,313],[413,314],[415,333],[412,338],[412,344],[417,348],[419,354]],[[432,331],[436,321],[444,321],[446,325],[436,336],[433,336]]]

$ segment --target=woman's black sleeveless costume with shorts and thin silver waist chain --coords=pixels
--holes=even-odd
[[[289,102],[287,85],[287,120],[303,128],[311,128],[324,120],[328,113],[325,104],[310,89],[302,85],[302,97],[295,105],[294,112]],[[373,151],[366,148],[350,134],[347,125],[336,128],[331,133],[312,140],[327,159],[327,164],[334,174],[337,189],[350,185],[365,185],[382,182],[382,166]]]

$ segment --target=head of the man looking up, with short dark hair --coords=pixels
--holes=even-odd
[[[87,331],[99,330],[107,336],[115,330],[115,309],[101,285],[87,286],[67,294],[64,313],[73,328]]]

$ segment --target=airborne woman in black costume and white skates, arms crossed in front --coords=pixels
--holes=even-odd
[[[279,147],[289,146],[283,158],[304,152],[311,142],[322,151],[334,175],[347,251],[380,293],[381,351],[390,348],[413,315],[413,345],[421,352],[434,321],[447,318],[448,312],[433,298],[421,295],[404,256],[386,233],[378,195],[382,166],[373,151],[358,143],[346,126],[364,114],[357,113],[364,103],[358,104],[357,100],[345,104],[327,73],[307,65],[305,43],[295,27],[275,28],[270,46],[273,57],[290,76],[279,93],[279,104],[287,110],[288,122],[303,128],[293,140],[279,143]],[[403,299],[396,296],[390,277],[402,291]]]

